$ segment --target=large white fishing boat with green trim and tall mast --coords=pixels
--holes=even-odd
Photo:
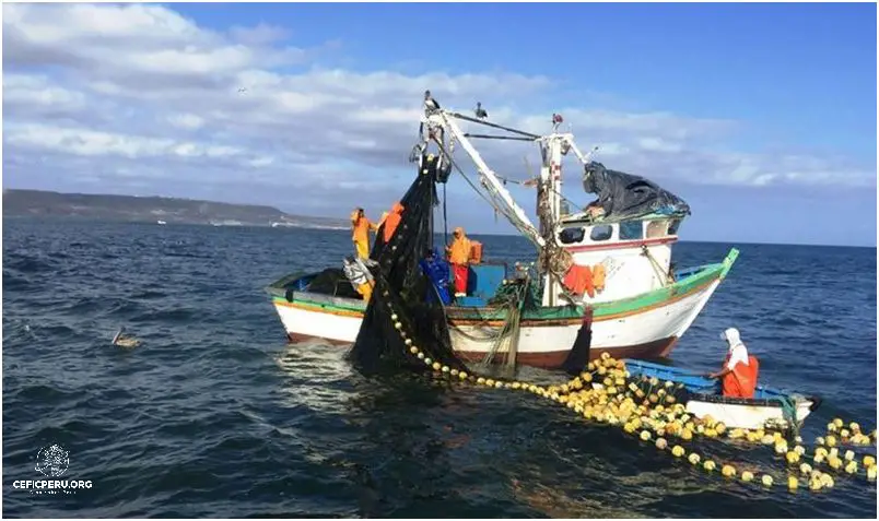
[[[531,262],[516,265],[483,262],[474,256],[467,296],[446,306],[453,348],[465,360],[508,364],[512,359],[559,368],[586,315],[591,321],[591,358],[605,352],[618,359],[666,357],[738,257],[733,248],[716,263],[671,268],[671,250],[690,208],[645,178],[591,161],[597,147],[584,155],[573,133],[560,130],[562,121],[553,114],[552,132],[538,135],[425,100],[419,141],[410,155],[418,175],[432,175],[445,183],[458,174],[536,249]],[[513,135],[466,132],[461,125],[467,123]],[[538,145],[540,170],[530,180],[537,191],[538,226],[506,189],[506,178],[490,168],[473,146],[476,139]],[[476,165],[477,180],[455,158],[458,150]],[[585,209],[572,209],[562,196],[566,157],[577,163],[574,175],[584,190],[598,196]],[[445,215],[445,198],[442,204]],[[341,261],[320,272],[284,276],[267,287],[290,341],[319,339],[340,345],[355,341],[366,303],[344,279]],[[599,272],[602,281],[589,280]],[[497,304],[499,293],[523,276],[530,281],[535,305]]]

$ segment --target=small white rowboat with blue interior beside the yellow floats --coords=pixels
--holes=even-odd
[[[633,378],[656,378],[659,381],[680,383],[687,412],[698,418],[711,416],[733,428],[799,428],[804,421],[821,405],[821,399],[785,392],[766,386],[757,386],[754,398],[729,398],[720,392],[719,380],[706,378],[685,369],[626,359],[625,370]]]

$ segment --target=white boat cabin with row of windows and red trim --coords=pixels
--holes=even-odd
[[[671,245],[678,240],[681,216],[645,215],[637,218],[591,220],[588,214],[571,215],[559,225],[555,238],[574,264],[593,272],[603,267],[603,287],[584,303],[628,298],[670,283]]]

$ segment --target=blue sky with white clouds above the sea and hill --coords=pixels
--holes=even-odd
[[[876,246],[872,3],[2,9],[3,188],[377,218],[414,175],[430,88],[537,133],[562,114],[597,161],[690,204],[683,240]],[[511,179],[539,162],[476,145]],[[593,200],[564,166],[565,197]],[[448,215],[515,233],[458,175]]]

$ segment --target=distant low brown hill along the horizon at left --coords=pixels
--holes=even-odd
[[[131,223],[295,226],[347,229],[342,218],[291,215],[277,208],[163,197],[3,190],[3,216],[58,216]]]

